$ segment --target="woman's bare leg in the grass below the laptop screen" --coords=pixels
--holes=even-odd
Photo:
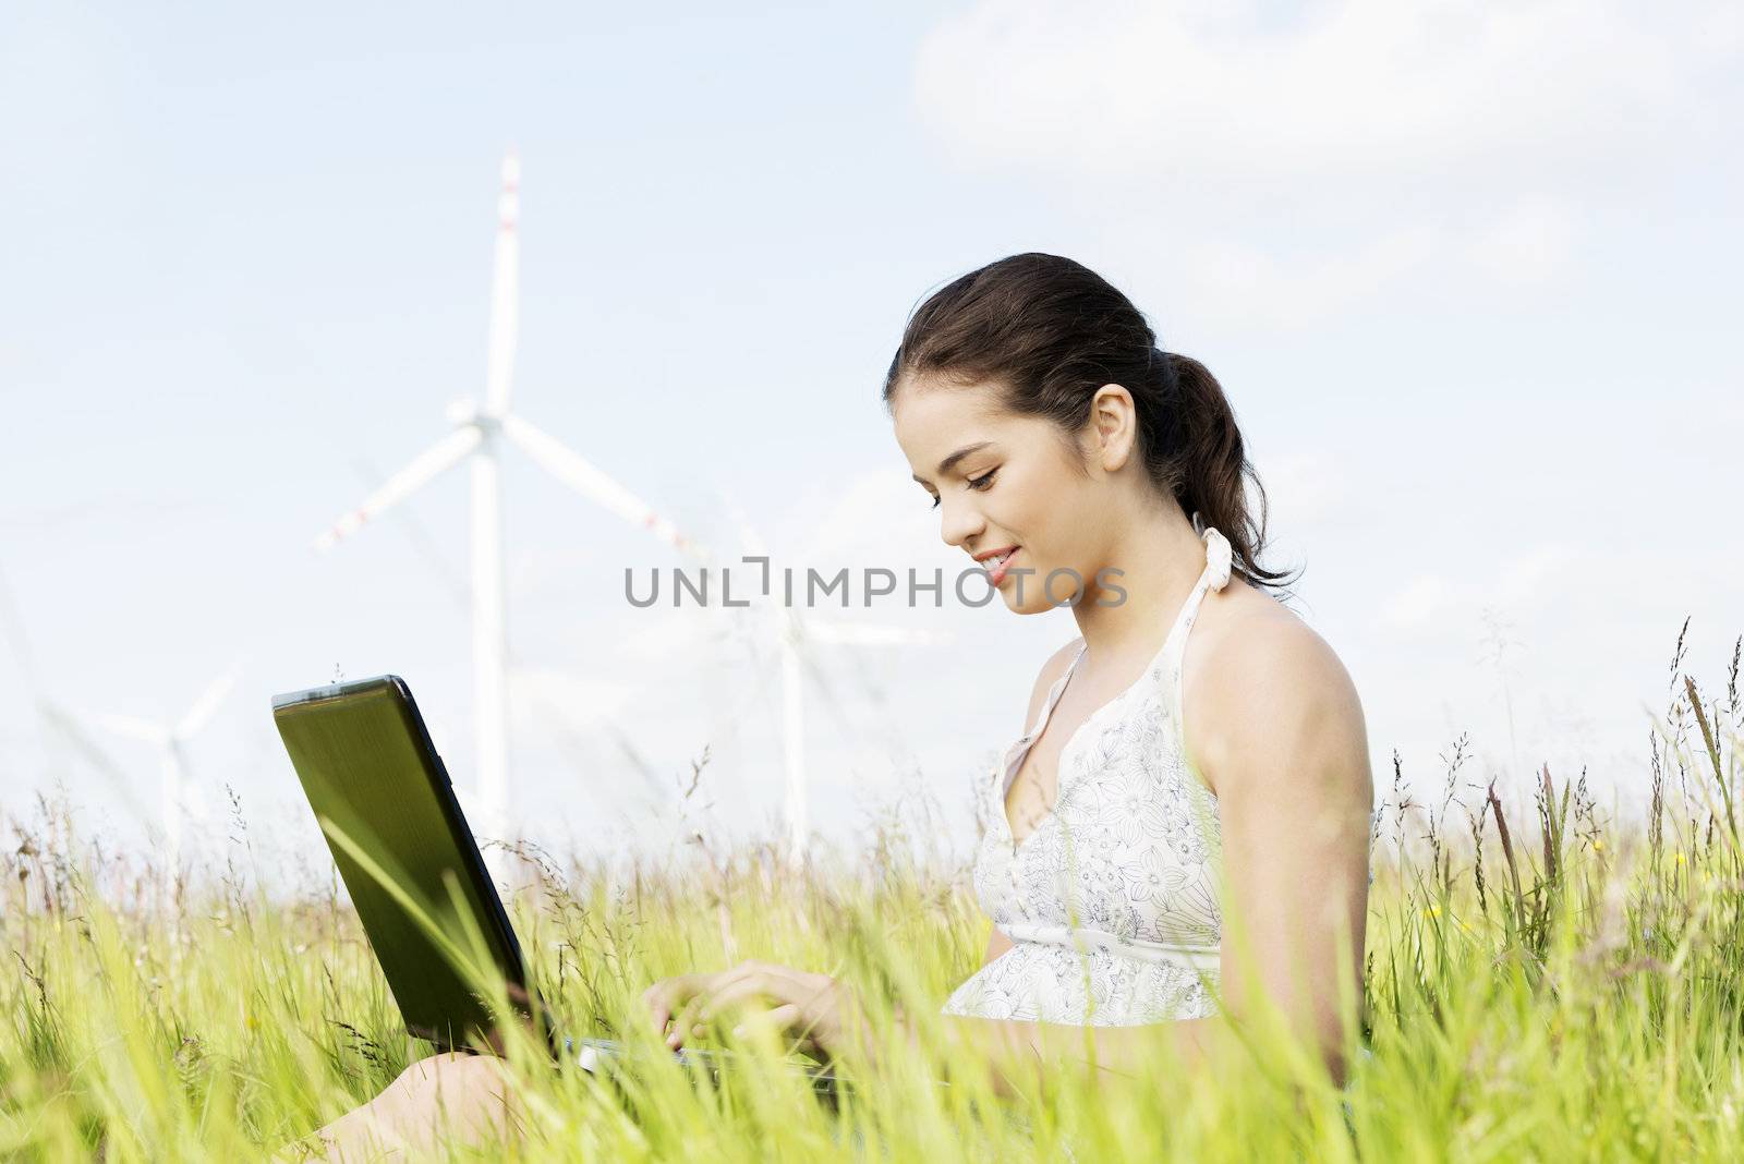
[[[316,1131],[324,1155],[359,1164],[427,1155],[441,1143],[473,1143],[518,1129],[513,1080],[490,1054],[433,1054],[399,1073],[368,1103]],[[295,1155],[281,1155],[295,1159]]]

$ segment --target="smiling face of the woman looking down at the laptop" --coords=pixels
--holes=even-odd
[[[903,382],[891,416],[914,479],[935,498],[938,535],[984,559],[1010,610],[1034,613],[1097,594],[1116,518],[1109,477],[1095,472],[1093,457],[1080,469],[1053,422],[1003,409],[984,383]],[[1093,441],[1085,441],[1088,457]],[[1013,547],[1005,566],[987,556]]]

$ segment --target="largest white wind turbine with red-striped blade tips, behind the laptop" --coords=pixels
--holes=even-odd
[[[511,152],[502,160],[502,193],[497,199],[497,247],[490,284],[490,352],[487,357],[485,403],[462,401],[448,408],[453,430],[415,457],[363,504],[316,538],[317,551],[331,549],[366,521],[405,500],[431,479],[473,462],[473,721],[474,767],[481,831],[501,836],[509,798],[508,760],[508,629],[502,594],[502,486],[497,451],[502,439],[518,446],[563,484],[624,521],[647,528],[668,545],[692,556],[701,549],[630,490],[600,472],[555,437],[509,411],[514,380],[514,345],[520,326],[520,162]]]

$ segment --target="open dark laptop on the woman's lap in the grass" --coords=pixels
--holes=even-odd
[[[441,1051],[501,1051],[480,990],[501,974],[513,1011],[537,1012],[555,1059],[616,1075],[626,1047],[570,1039],[528,979],[502,899],[431,744],[412,688],[396,674],[272,697],[272,718],[351,892],[406,1032]],[[692,1077],[720,1080],[731,1052],[670,1052]],[[834,1100],[835,1075],[806,1066]]]

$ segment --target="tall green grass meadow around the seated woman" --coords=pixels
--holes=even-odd
[[[771,845],[628,873],[521,847],[511,903],[563,1030],[647,1052],[624,1093],[508,1066],[520,1136],[452,1159],[514,1161],[1690,1161],[1744,1157],[1744,842],[1739,650],[1699,681],[1683,640],[1643,723],[1627,819],[1584,774],[1491,786],[1465,741],[1435,796],[1376,756],[1369,1054],[1332,1086],[1277,1032],[1186,1072],[1039,1075],[992,1093],[938,1049],[935,1016],[985,950],[968,871],[884,824],[855,859],[790,871]],[[706,779],[706,772],[705,772]],[[241,824],[237,824],[241,829]],[[241,1161],[284,1152],[429,1047],[398,1011],[337,889],[269,897],[230,836],[206,876],[106,854],[44,802],[5,824],[0,1159]],[[218,847],[213,847],[216,852]],[[657,978],[760,958],[849,979],[888,1049],[818,1101],[769,1039],[719,1089],[654,1054]],[[898,1054],[893,1005],[921,1023]],[[862,1070],[863,1068],[863,1070]],[[860,1073],[855,1073],[860,1070]],[[947,1086],[942,1086],[944,1080]]]

